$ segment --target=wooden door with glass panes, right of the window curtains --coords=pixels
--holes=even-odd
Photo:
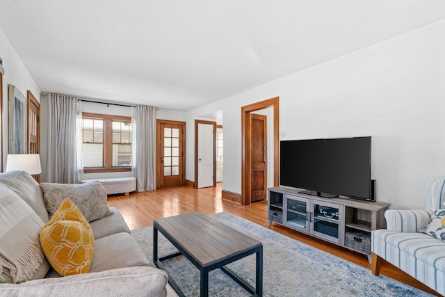
[[[157,120],[157,188],[185,184],[185,127],[185,122]]]

